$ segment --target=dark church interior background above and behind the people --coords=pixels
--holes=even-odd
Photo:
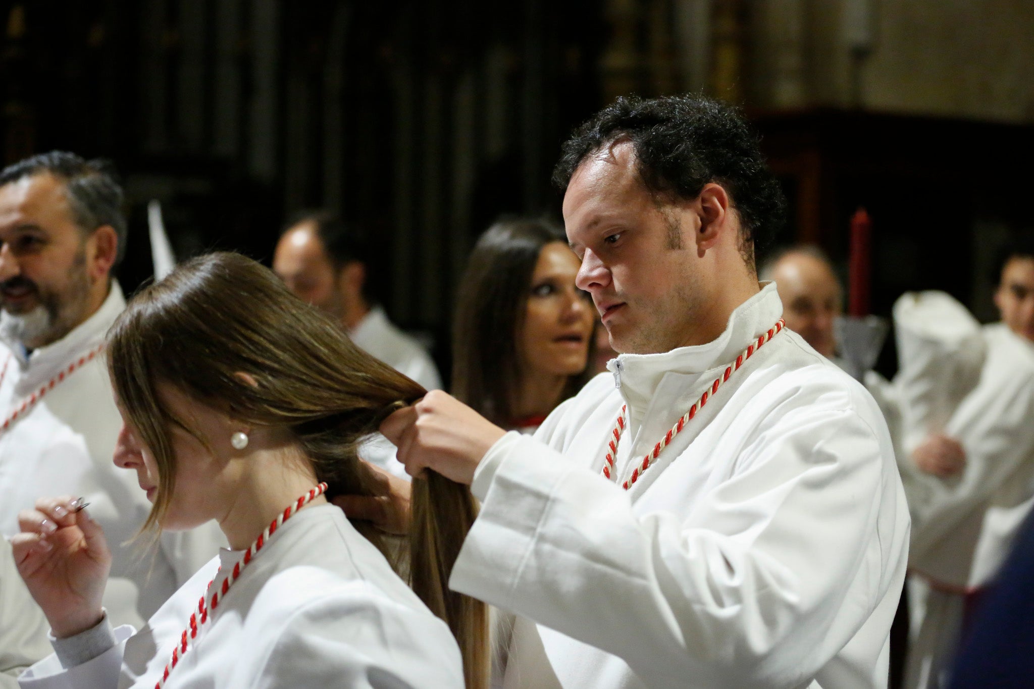
[[[151,273],[151,198],[181,258],[229,248],[268,262],[285,217],[338,211],[383,257],[371,276],[392,318],[428,335],[448,370],[454,286],[477,236],[504,213],[558,218],[559,144],[613,96],[687,88],[676,5],[0,1],[3,162],[51,149],[115,161],[127,291]],[[750,57],[750,9],[722,5],[723,50]],[[782,242],[819,244],[843,271],[848,220],[864,206],[875,313],[939,288],[994,317],[995,248],[1032,225],[1034,127],[777,109],[752,100],[752,77],[744,67],[735,88],[716,77],[707,90],[763,133],[791,201]],[[881,367],[892,370],[892,349]]]

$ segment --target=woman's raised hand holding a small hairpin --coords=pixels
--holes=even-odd
[[[58,638],[100,622],[112,568],[100,526],[77,507],[69,496],[38,500],[35,509],[19,512],[22,533],[10,539],[18,571]]]

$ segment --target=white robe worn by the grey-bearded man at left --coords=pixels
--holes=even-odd
[[[0,347],[0,414],[6,416],[73,359],[103,342],[125,309],[117,282],[90,318],[61,340],[33,350]],[[0,433],[0,534],[19,532],[18,512],[41,497],[83,496],[112,549],[112,577],[104,605],[116,624],[140,624],[225,543],[215,523],[190,532],[162,534],[155,557],[140,541],[127,543],[144,524],[151,503],[136,473],[112,462],[122,419],[115,407],[102,356],[77,369],[43,396],[6,433]]]

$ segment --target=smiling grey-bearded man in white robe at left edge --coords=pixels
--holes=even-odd
[[[102,161],[52,152],[0,171],[0,534],[41,496],[85,497],[113,542],[105,605],[139,623],[223,541],[209,525],[162,537],[153,558],[128,542],[150,505],[111,462],[121,421],[102,345],[125,308],[121,205]]]

